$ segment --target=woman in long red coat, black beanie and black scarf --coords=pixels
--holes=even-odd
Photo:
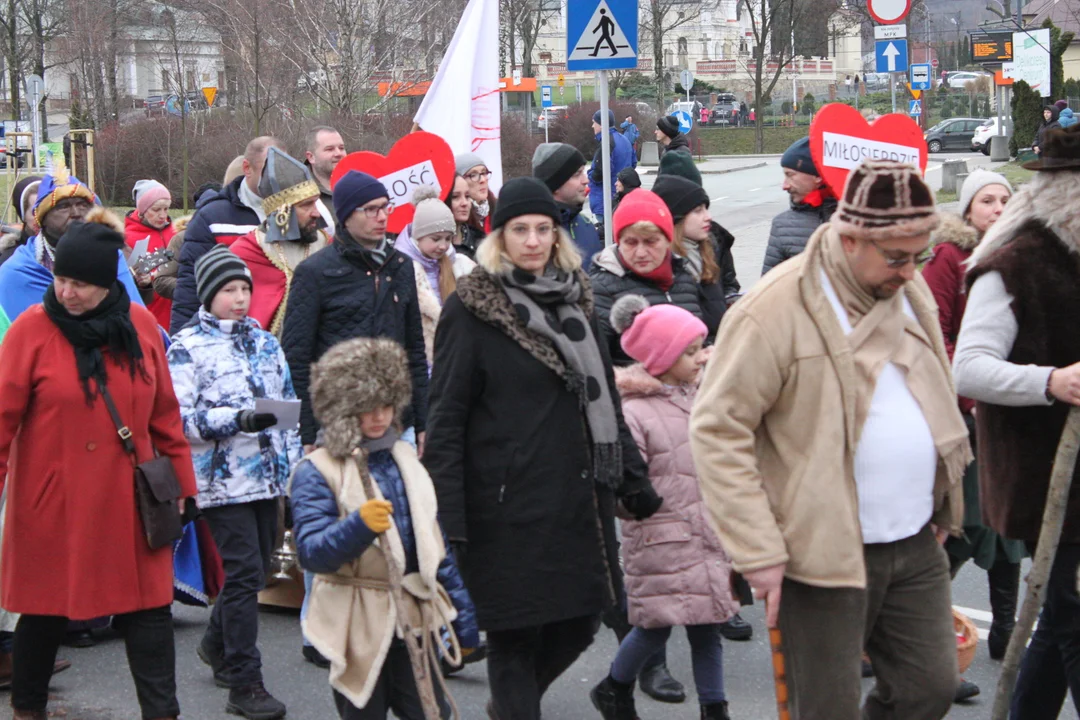
[[[117,282],[119,218],[104,209],[56,246],[44,303],[0,345],[0,479],[6,477],[2,592],[15,628],[12,707],[44,719],[68,620],[113,615],[143,717],[176,718],[173,551],[151,551],[133,461],[99,393],[105,383],[138,461],[173,461],[194,495],[191,452],[154,317]],[[110,227],[111,226],[111,227]],[[177,507],[179,512],[179,507]]]

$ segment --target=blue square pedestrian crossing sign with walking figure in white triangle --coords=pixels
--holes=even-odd
[[[567,70],[637,67],[637,0],[579,0],[566,14]]]

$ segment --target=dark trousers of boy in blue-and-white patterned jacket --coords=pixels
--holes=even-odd
[[[207,507],[203,516],[225,566],[225,584],[203,643],[222,658],[218,676],[231,687],[261,682],[258,595],[266,587],[278,538],[278,501]]]

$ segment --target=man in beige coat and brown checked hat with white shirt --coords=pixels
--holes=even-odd
[[[793,718],[937,720],[971,461],[917,168],[863,161],[829,223],[725,317],[691,418],[720,541],[783,636]],[[866,649],[877,685],[860,708]]]

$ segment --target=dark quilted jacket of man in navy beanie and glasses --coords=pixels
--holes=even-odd
[[[334,243],[301,262],[288,293],[282,348],[293,375],[300,408],[300,439],[315,441],[319,423],[311,411],[311,364],[343,340],[390,338],[408,355],[413,376],[413,407],[403,422],[416,432],[428,417],[428,355],[417,301],[413,261],[389,249],[376,264],[342,228]]]

